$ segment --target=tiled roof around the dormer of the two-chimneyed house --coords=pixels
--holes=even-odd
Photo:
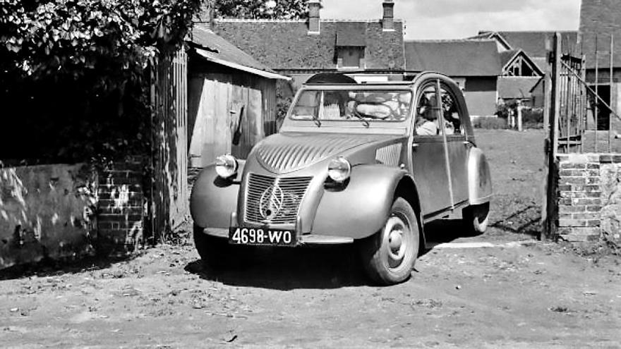
[[[394,22],[394,31],[383,31],[380,20],[322,20],[320,34],[308,35],[304,20],[228,19],[216,20],[214,30],[272,69],[334,70],[337,32],[356,27],[364,29],[367,69],[404,68],[403,23],[398,20]]]

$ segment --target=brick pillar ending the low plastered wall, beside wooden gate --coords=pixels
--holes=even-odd
[[[146,215],[143,164],[134,160],[115,163],[99,176],[97,247],[103,253],[123,253],[143,243]]]

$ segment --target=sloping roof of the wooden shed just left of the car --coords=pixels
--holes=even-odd
[[[194,25],[191,35],[191,42],[198,47],[210,51],[217,59],[236,63],[241,66],[260,69],[262,71],[270,71],[267,66],[258,62],[234,44],[231,44],[222,37],[215,35],[215,33],[207,29],[205,25],[198,23]]]

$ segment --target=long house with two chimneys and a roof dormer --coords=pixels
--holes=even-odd
[[[289,75],[293,90],[317,73],[350,73],[358,81],[402,80],[401,20],[394,3],[382,3],[378,20],[329,20],[320,1],[308,1],[304,20],[216,19],[213,30],[264,66]]]

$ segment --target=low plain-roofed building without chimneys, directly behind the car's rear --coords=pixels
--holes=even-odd
[[[501,64],[494,40],[406,41],[405,65],[408,72],[438,71],[453,78],[471,116],[495,114]]]

